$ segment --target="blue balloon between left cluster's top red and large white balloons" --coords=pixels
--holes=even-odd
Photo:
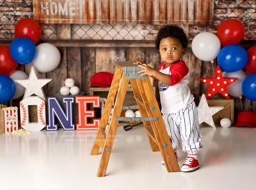
[[[36,45],[28,38],[16,38],[10,45],[12,58],[20,64],[30,63],[36,55]]]

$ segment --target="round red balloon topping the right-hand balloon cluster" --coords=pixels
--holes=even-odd
[[[244,25],[238,20],[224,20],[217,29],[217,36],[222,46],[237,44],[244,37]]]

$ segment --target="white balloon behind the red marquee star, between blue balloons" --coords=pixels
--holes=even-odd
[[[227,86],[227,90],[228,90],[228,93],[234,97],[239,97],[243,95],[242,84],[244,79],[246,78],[246,74],[242,70],[231,72],[231,73],[223,72],[222,76],[225,78],[226,77],[238,78],[238,80],[236,80],[235,82]]]

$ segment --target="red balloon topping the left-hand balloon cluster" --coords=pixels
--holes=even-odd
[[[15,25],[16,38],[25,37],[36,43],[41,36],[39,24],[32,18],[23,18]]]

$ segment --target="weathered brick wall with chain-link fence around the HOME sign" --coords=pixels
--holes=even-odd
[[[32,0],[0,0],[0,40],[14,39],[14,27],[16,22],[26,17],[33,18]],[[221,21],[229,18],[237,19],[244,24],[244,40],[256,40],[256,0],[215,0],[213,25],[189,25],[190,40],[201,31],[216,33],[217,27]],[[41,39],[57,39],[56,24],[40,24],[40,26],[42,29]],[[73,28],[77,28],[77,26],[78,29],[73,30]],[[104,27],[109,27],[109,25],[101,25],[100,27],[104,29]],[[125,28],[123,25],[118,27]],[[148,38],[148,35],[151,35],[152,31],[147,31],[146,28],[145,25],[145,30],[143,30],[145,36],[141,36],[140,40],[143,39],[143,37],[145,40],[152,40],[152,38]],[[120,31],[123,30],[120,29]],[[71,24],[72,39],[84,39],[85,37],[85,39],[93,39],[93,37],[97,36],[95,34],[90,36],[90,34],[86,32],[87,31],[83,30],[83,25]],[[95,33],[94,31],[92,32]],[[151,36],[154,37],[156,33],[157,31],[154,30]],[[138,34],[143,35],[143,32],[138,31]],[[105,38],[107,40],[111,39],[108,35],[102,38],[99,37],[99,39]],[[128,38],[127,36],[124,39],[136,40],[136,38]]]

